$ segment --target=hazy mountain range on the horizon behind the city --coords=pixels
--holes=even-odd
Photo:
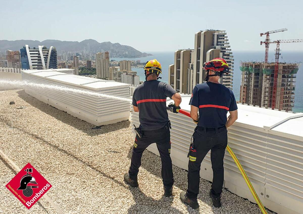
[[[16,41],[8,41],[8,40],[0,40],[0,51],[5,52],[6,50],[19,50],[22,49],[25,44],[28,44],[30,48],[36,47],[38,45],[44,45],[45,47],[54,46],[57,50],[57,53],[61,53],[61,51],[65,52],[79,52],[88,49],[90,51],[101,52],[102,50],[108,51],[110,57],[146,57],[152,56],[149,53],[142,53],[135,48],[122,45],[119,43],[111,43],[111,42],[102,42],[99,43],[93,39],[86,39],[81,42],[78,41],[60,41],[60,40],[16,40]]]

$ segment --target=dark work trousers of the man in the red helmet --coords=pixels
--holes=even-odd
[[[211,193],[213,196],[218,197],[222,193],[224,181],[223,158],[227,146],[227,129],[225,126],[221,128],[197,126],[193,138],[193,147],[196,151],[190,151],[187,196],[190,199],[197,198],[201,162],[208,151],[211,150],[211,168],[213,170]]]

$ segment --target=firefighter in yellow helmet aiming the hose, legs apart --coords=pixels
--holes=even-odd
[[[164,185],[164,195],[171,196],[174,177],[170,157],[170,121],[166,110],[166,98],[175,101],[170,107],[175,113],[180,109],[181,96],[169,84],[158,81],[162,72],[161,64],[149,60],[144,66],[145,82],[139,85],[133,95],[132,105],[139,112],[140,126],[135,127],[136,138],[132,151],[132,162],[124,181],[133,187],[138,187],[137,175],[141,165],[143,151],[152,143],[157,144],[160,153]]]

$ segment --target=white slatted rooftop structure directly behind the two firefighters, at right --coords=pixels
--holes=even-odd
[[[191,95],[181,95],[181,109],[190,111]],[[167,100],[167,105],[171,102]],[[188,169],[188,149],[195,123],[168,112],[171,121],[171,159]],[[139,126],[138,113],[132,123]],[[303,113],[289,113],[238,104],[238,120],[228,128],[228,145],[238,157],[264,206],[279,214],[303,210]],[[149,151],[159,155],[156,144]],[[228,151],[224,157],[224,187],[255,203]],[[201,164],[200,176],[212,180],[210,152]],[[260,212],[261,213],[261,212]]]

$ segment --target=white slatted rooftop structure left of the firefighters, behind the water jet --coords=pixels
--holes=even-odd
[[[96,126],[129,119],[130,102],[96,96],[97,93],[127,99],[129,98],[128,84],[62,73],[66,69],[63,69],[62,72],[55,70],[22,70],[23,80],[48,86],[61,86],[60,90],[28,86],[25,88],[25,92],[48,105]],[[67,70],[67,72],[70,71]],[[62,87],[68,87],[70,90],[62,90]],[[88,93],[79,93],[77,89],[85,90]]]

